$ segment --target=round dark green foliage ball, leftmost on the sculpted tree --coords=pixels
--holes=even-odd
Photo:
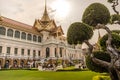
[[[92,37],[93,30],[90,26],[75,22],[70,25],[67,32],[67,41],[69,44],[81,44],[84,40],[88,40]]]

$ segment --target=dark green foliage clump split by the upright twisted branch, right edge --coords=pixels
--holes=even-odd
[[[106,41],[108,39],[108,35],[104,35],[101,39],[100,39],[100,46],[102,48],[102,50],[106,50]],[[112,46],[119,48],[120,47],[120,35],[116,34],[116,33],[112,33]]]

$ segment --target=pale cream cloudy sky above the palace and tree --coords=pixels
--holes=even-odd
[[[66,36],[70,24],[81,22],[85,8],[94,2],[104,4],[112,14],[114,13],[111,4],[107,0],[47,0],[47,9],[51,19],[54,19],[57,25],[62,26]],[[0,14],[10,19],[33,25],[35,19],[42,17],[44,3],[45,0],[0,0]],[[57,9],[61,10],[57,11]],[[120,11],[120,5],[117,7],[117,10]],[[108,25],[108,27],[110,29],[120,29],[118,25],[114,25],[114,27]],[[97,39],[97,31],[94,32],[92,42]],[[100,30],[100,33],[104,35],[105,31]]]

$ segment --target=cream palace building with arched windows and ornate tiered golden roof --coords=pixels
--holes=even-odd
[[[69,45],[61,26],[50,19],[45,6],[33,26],[0,16],[0,65],[24,66],[41,59],[83,60],[81,45]]]

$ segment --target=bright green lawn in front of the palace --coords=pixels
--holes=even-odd
[[[99,73],[91,71],[49,72],[30,70],[0,71],[0,80],[92,80]]]

